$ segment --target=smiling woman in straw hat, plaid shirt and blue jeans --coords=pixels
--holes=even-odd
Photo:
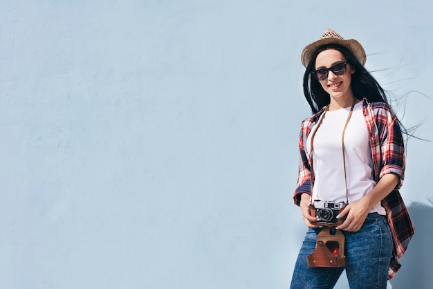
[[[342,274],[340,267],[308,267],[323,225],[344,234],[351,288],[386,288],[414,234],[398,192],[405,171],[400,124],[365,61],[358,41],[333,30],[302,50],[304,95],[314,114],[302,122],[300,135],[293,198],[308,232],[291,288],[333,288]],[[313,205],[328,202],[346,204],[331,223],[311,214]]]

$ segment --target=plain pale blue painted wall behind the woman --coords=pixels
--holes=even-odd
[[[418,91],[396,104],[433,140],[432,8],[0,0],[1,288],[288,288],[300,51],[326,28],[361,41],[385,88]],[[428,239],[432,145],[407,151]],[[422,240],[393,288],[428,288]]]

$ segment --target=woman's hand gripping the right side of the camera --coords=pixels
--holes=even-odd
[[[344,216],[346,216],[346,220],[344,220],[337,229],[347,232],[359,231],[369,214],[369,210],[369,202],[365,200],[365,198],[350,203],[338,215],[338,218],[344,218]]]

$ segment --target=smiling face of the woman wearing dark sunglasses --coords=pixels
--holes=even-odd
[[[335,49],[324,50],[315,59],[315,69],[330,68],[339,62],[346,62],[340,51]],[[329,93],[331,99],[336,101],[353,100],[354,97],[351,89],[351,79],[355,69],[350,64],[346,65],[347,70],[343,75],[335,75],[332,71],[329,71],[328,77],[319,80],[324,91]]]

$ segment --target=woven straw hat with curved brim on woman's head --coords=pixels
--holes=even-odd
[[[362,48],[362,45],[358,41],[356,41],[355,39],[344,39],[334,30],[328,29],[322,34],[319,40],[314,41],[311,44],[308,44],[302,50],[302,54],[301,54],[302,65],[304,65],[305,67],[308,66],[308,63],[310,62],[311,57],[313,56],[315,50],[317,50],[317,48],[319,48],[320,46],[324,46],[326,44],[338,44],[349,49],[350,52],[353,53],[353,55],[355,55],[356,59],[358,59],[358,62],[362,64],[362,66],[364,66],[367,60],[367,56],[365,55],[365,50],[364,48]]]

